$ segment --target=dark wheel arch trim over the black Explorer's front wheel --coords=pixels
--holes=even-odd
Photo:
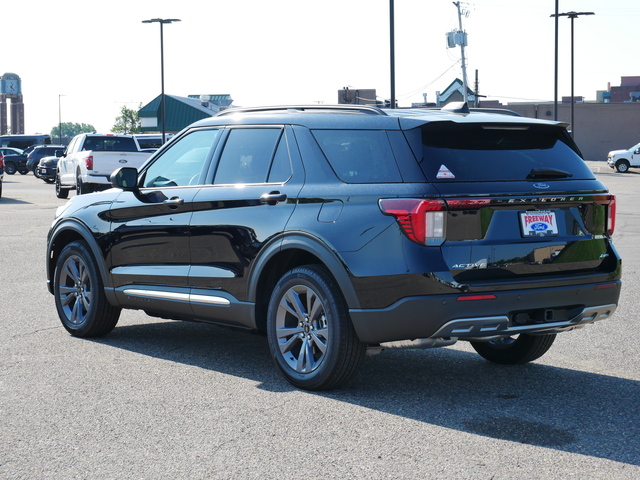
[[[102,261],[102,252],[91,231],[79,222],[66,220],[56,226],[47,242],[47,288],[50,293],[53,293],[53,277],[60,252],[62,252],[64,247],[69,245],[71,242],[77,240],[84,241],[89,247],[93,258],[96,259],[103,285],[108,286],[111,284],[108,279],[104,262]],[[105,290],[108,291],[108,289]]]

